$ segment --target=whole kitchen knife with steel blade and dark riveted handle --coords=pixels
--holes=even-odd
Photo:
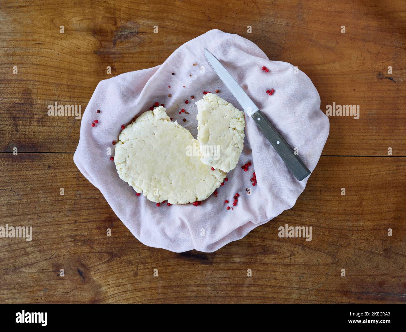
[[[303,164],[302,160],[294,154],[293,149],[287,144],[285,139],[279,134],[275,127],[269,120],[262,114],[255,103],[245,93],[241,86],[234,80],[233,76],[224,68],[224,66],[206,49],[204,50],[207,61],[217,73],[220,80],[223,81],[225,86],[230,90],[237,99],[238,103],[244,108],[244,111],[251,116],[257,123],[258,127],[262,130],[263,134],[271,143],[272,147],[276,150],[279,156],[285,162],[287,168],[292,174],[302,181],[310,175],[309,169]]]

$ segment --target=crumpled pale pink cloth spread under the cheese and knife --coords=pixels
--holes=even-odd
[[[251,41],[220,30],[210,30],[181,45],[162,65],[99,82],[83,114],[73,160],[139,241],[173,252],[213,252],[241,239],[293,207],[308,179],[296,180],[247,114],[244,149],[237,167],[227,174],[229,181],[218,188],[218,194],[201,205],[157,207],[145,196],[136,196],[119,178],[110,161],[114,156],[112,141],[117,141],[121,125],[129,124],[155,102],[163,103],[168,116],[195,138],[195,102],[203,97],[203,91],[219,90],[221,98],[242,110],[207,63],[205,48],[228,69],[311,171],[329,132],[320,97],[307,75],[289,63],[269,60]],[[263,71],[262,66],[269,71]],[[275,90],[272,96],[266,93],[270,89]],[[178,114],[181,108],[189,114]],[[99,122],[92,127],[95,119]],[[252,165],[244,172],[241,166],[248,162]],[[253,172],[255,186],[250,181]],[[238,205],[227,210],[224,201],[232,201],[236,193],[240,194]]]

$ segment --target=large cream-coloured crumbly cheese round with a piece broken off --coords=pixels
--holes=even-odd
[[[205,200],[226,176],[200,157],[199,142],[159,106],[122,130],[114,164],[119,177],[149,200],[186,204]]]

